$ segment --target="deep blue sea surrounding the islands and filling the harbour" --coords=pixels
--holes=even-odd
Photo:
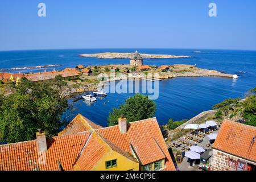
[[[47,64],[61,64],[63,69],[83,65],[128,64],[128,59],[83,58],[81,53],[134,52],[136,49],[64,49],[43,51],[6,51],[0,52],[0,69],[27,67]],[[218,77],[174,78],[159,82],[159,98],[156,100],[155,116],[160,124],[170,118],[177,120],[192,118],[201,111],[211,109],[212,105],[226,98],[243,97],[247,90],[256,86],[256,51],[225,51],[197,49],[138,49],[143,53],[188,55],[190,59],[144,60],[144,64],[197,64],[200,68],[215,69],[240,75],[238,80]],[[202,51],[193,53],[193,51]],[[48,70],[52,70],[49,68]],[[30,72],[20,71],[20,72]],[[32,72],[40,71],[38,69]],[[42,71],[42,70],[41,70]],[[17,72],[17,71],[16,71]],[[19,72],[19,71],[18,71]],[[81,113],[99,125],[106,126],[109,111],[125,102],[132,94],[109,94],[93,105],[84,101],[69,101],[73,111],[68,110],[63,117],[68,120]]]

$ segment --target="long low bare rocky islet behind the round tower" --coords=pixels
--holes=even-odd
[[[151,55],[146,53],[140,54],[143,59],[174,59],[189,58],[191,56],[175,56],[175,55]],[[79,55],[81,57],[97,57],[98,59],[130,59],[133,53],[103,52],[103,53],[85,53]]]

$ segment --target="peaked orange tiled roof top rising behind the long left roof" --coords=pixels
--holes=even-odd
[[[102,126],[96,125],[94,122],[85,118],[81,114],[77,114],[77,116],[62,130],[58,135],[73,135],[80,133],[82,131],[91,131],[94,129],[100,129]]]

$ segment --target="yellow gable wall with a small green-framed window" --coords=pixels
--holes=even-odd
[[[106,169],[106,162],[114,159],[117,159],[117,166]],[[133,169],[133,171],[139,171],[139,163],[110,150],[108,154],[104,155],[96,166],[94,166],[93,171],[128,171],[131,169]]]

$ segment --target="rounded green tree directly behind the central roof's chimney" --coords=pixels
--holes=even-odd
[[[117,125],[118,118],[121,115],[124,115],[127,122],[133,122],[151,118],[154,116],[155,111],[156,105],[154,101],[148,100],[147,96],[136,94],[128,98],[125,104],[120,105],[118,109],[113,109],[108,118],[109,126]]]

